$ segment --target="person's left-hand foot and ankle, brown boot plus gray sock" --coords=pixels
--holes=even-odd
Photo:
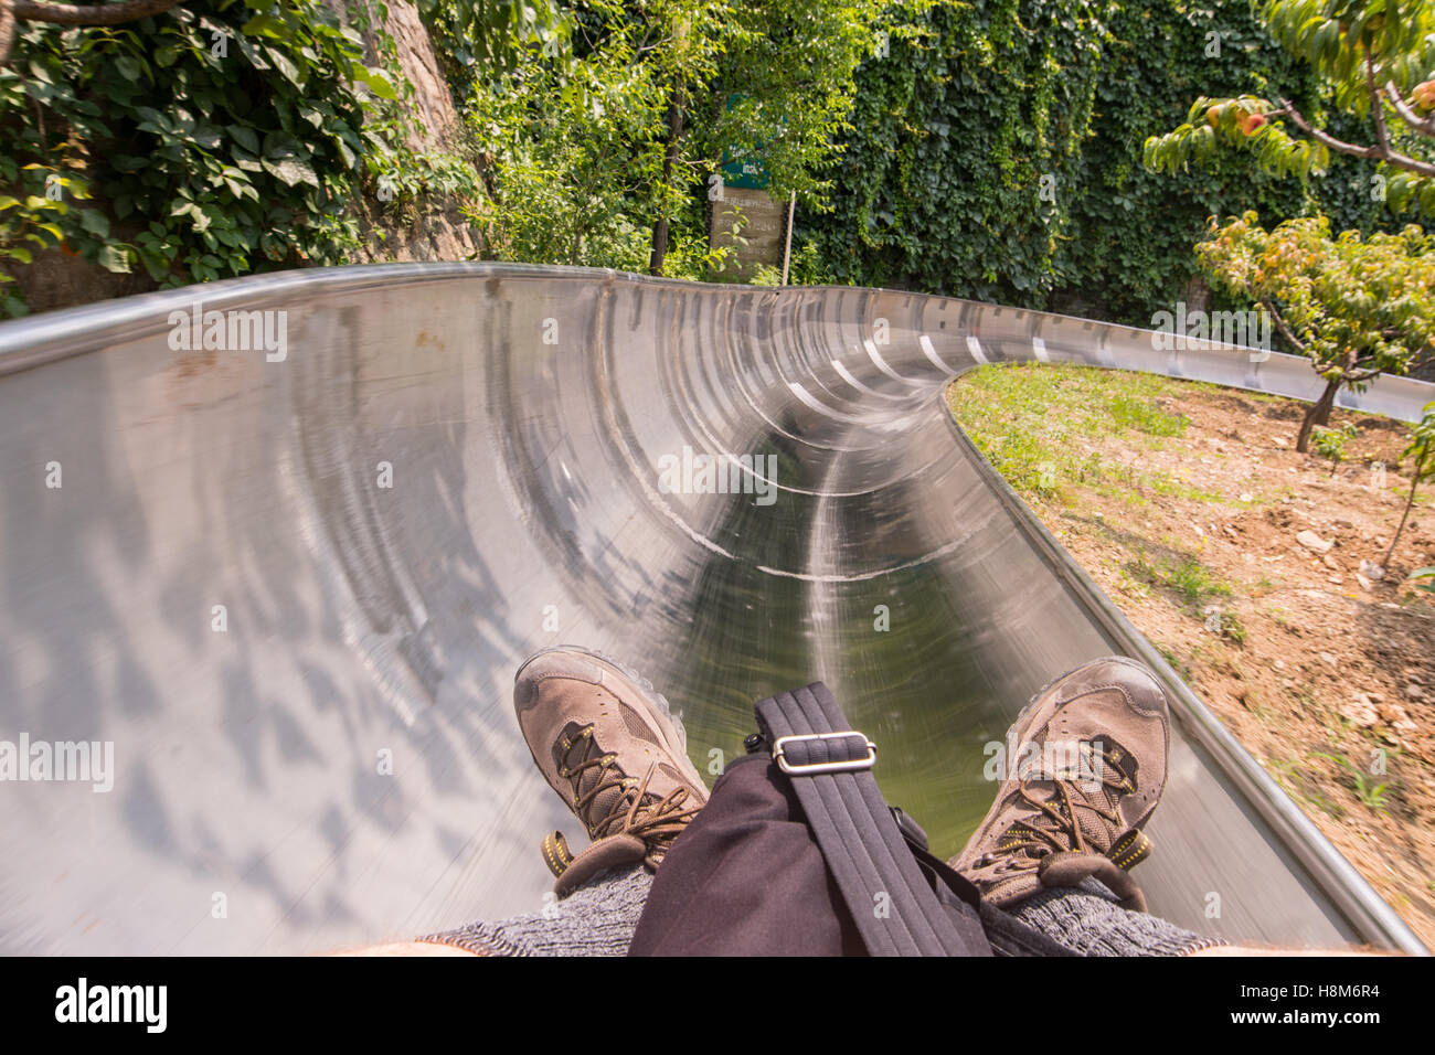
[[[560,833],[542,841],[557,899],[541,911],[419,944],[484,956],[621,956],[653,871],[707,801],[682,722],[646,679],[571,646],[545,649],[518,669],[514,706],[540,772],[593,843],[573,855]]]

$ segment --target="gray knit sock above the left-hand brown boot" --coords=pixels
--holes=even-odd
[[[419,940],[482,956],[624,956],[651,886],[653,874],[641,864],[614,868],[542,913],[469,923]]]

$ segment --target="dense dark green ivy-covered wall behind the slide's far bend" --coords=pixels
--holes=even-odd
[[[804,281],[893,286],[1149,324],[1185,296],[1205,218],[1326,211],[1389,227],[1369,162],[1325,179],[1241,158],[1180,177],[1142,168],[1148,135],[1200,95],[1316,80],[1248,0],[941,3],[860,72],[832,211],[799,214]]]

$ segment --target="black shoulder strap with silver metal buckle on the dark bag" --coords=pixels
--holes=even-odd
[[[961,927],[938,903],[871,774],[877,746],[848,726],[832,692],[814,682],[753,709],[868,953],[990,955],[974,914]]]

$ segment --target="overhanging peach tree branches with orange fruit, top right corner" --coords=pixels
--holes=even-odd
[[[1223,148],[1276,175],[1325,175],[1332,152],[1393,172],[1392,207],[1435,214],[1435,6],[1429,0],[1261,0],[1270,33],[1333,86],[1333,108],[1360,121],[1365,142],[1287,95],[1198,98],[1185,123],[1145,144],[1145,162],[1177,172]],[[1287,126],[1287,122],[1290,126]]]

